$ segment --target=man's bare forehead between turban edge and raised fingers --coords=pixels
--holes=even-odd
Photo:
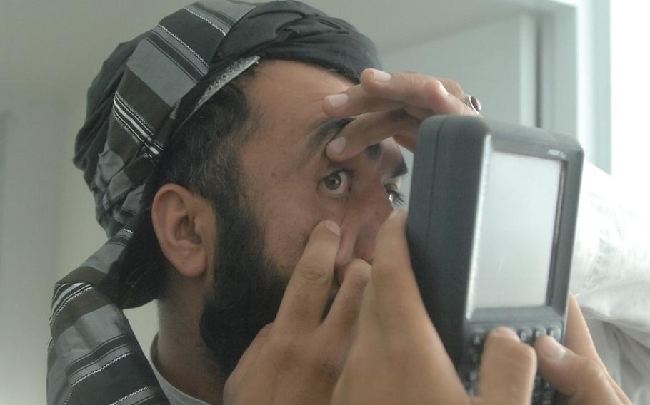
[[[256,129],[242,150],[244,160],[276,174],[301,168],[309,158],[311,135],[330,120],[323,111],[324,97],[351,86],[346,78],[307,63],[262,63],[245,88]],[[394,140],[382,144],[399,155]]]

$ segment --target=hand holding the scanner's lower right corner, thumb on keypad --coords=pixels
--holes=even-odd
[[[564,394],[562,404],[631,404],[596,353],[589,329],[572,294],[569,297],[565,344],[566,348],[551,337],[535,342],[541,374]]]

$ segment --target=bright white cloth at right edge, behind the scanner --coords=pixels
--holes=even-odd
[[[636,405],[650,405],[649,208],[585,164],[571,291],[609,373]]]

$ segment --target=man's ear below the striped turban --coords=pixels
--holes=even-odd
[[[151,205],[151,222],[171,265],[185,277],[203,275],[216,235],[209,202],[180,185],[163,185]]]

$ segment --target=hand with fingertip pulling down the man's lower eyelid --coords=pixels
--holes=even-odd
[[[321,319],[339,239],[334,222],[314,228],[275,321],[259,332],[226,381],[224,404],[329,404],[369,280],[367,263],[349,265],[329,314]]]

